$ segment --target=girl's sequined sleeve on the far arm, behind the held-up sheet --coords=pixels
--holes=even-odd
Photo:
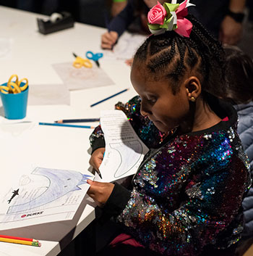
[[[147,117],[140,114],[140,97],[135,96],[130,99],[127,104],[118,102],[115,105],[116,110],[122,110],[132,124],[134,131],[148,148],[156,148],[160,146],[163,139],[166,138],[166,133],[161,133]],[[103,131],[100,125],[95,128],[90,136],[90,145],[93,147],[97,139],[103,139]]]

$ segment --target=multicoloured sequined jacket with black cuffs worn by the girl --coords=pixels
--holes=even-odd
[[[151,150],[132,190],[116,184],[103,211],[162,255],[200,255],[206,247],[226,248],[240,239],[249,164],[236,132],[236,111],[215,101],[211,107],[227,122],[167,137],[140,115],[138,97],[116,106]],[[101,139],[98,127],[90,136],[93,149]]]

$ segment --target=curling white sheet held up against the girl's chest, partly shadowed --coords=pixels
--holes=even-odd
[[[120,110],[103,110],[100,124],[106,141],[106,152],[99,168],[103,181],[111,182],[136,173],[149,149],[139,139],[127,116]]]

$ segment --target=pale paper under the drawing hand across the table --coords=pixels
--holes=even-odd
[[[104,58],[119,60],[131,59],[146,38],[147,36],[126,32],[119,38],[118,43],[113,46],[113,51],[103,51]]]

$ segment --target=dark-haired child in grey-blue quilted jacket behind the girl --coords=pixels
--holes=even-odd
[[[249,157],[250,170],[253,171],[253,62],[236,46],[224,46],[226,54],[227,93],[226,99],[231,101],[239,115],[238,132],[244,151]],[[244,236],[253,235],[253,188],[245,197]]]

